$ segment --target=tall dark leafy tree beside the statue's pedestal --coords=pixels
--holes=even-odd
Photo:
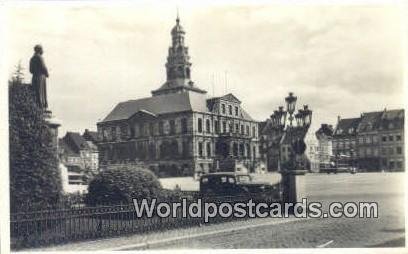
[[[21,66],[20,66],[21,67]],[[10,205],[11,210],[34,204],[56,205],[61,177],[52,133],[35,103],[31,85],[23,84],[21,68],[9,82]]]

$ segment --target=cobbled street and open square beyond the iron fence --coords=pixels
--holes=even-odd
[[[310,174],[303,179],[309,202],[375,201],[377,219],[249,219],[33,250],[402,247],[404,178],[400,173],[367,173]]]

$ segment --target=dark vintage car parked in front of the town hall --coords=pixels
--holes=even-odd
[[[249,174],[217,172],[200,177],[200,196],[245,196],[256,199],[278,199],[279,185],[256,182]]]

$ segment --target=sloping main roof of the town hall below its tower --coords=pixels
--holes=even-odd
[[[203,94],[191,92],[173,93],[121,102],[102,122],[128,119],[141,110],[155,115],[183,111],[208,111]]]

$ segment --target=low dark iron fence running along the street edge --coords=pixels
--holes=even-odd
[[[249,200],[248,197],[234,196],[217,197],[216,199],[205,198],[202,201],[220,203],[245,200]],[[264,201],[273,202],[272,199]],[[234,219],[233,216],[230,218],[218,216],[211,218],[209,223],[232,219]],[[144,234],[203,223],[204,218],[191,217],[188,213],[187,217],[183,217],[181,211],[177,213],[176,217],[171,215],[166,218],[157,215],[138,217],[133,204],[94,207],[76,205],[66,208],[11,213],[10,239],[12,249],[22,249],[125,234]]]

